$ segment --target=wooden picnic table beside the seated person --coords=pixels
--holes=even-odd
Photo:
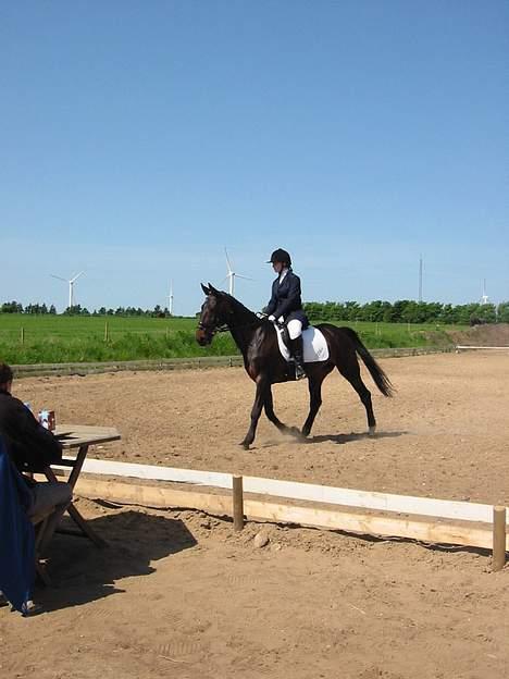
[[[87,457],[88,448],[91,445],[110,443],[111,441],[120,441],[121,439],[120,433],[113,427],[59,424],[53,433],[62,444],[64,453],[75,452],[77,449],[77,455],[75,457],[65,455],[62,461],[58,465],[59,467],[67,467],[69,469],[71,469],[71,473],[66,482],[71,485],[73,490],[79,478],[83,464],[85,462],[85,459]],[[51,467],[46,468],[45,474],[48,481],[53,483],[58,481],[57,474]],[[99,538],[99,535],[90,528],[88,522],[79,514],[74,503],[71,503],[69,505],[66,511],[76,523],[76,526],[79,528],[80,532],[77,534],[89,538],[99,547],[105,545],[105,542],[101,538]],[[62,511],[60,516],[55,516],[51,522],[51,526],[48,526],[45,530],[44,546],[47,545],[51,540],[51,536],[57,530],[63,514],[64,511]]]

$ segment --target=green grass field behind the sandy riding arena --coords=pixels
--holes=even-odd
[[[108,323],[108,333],[105,333]],[[195,341],[194,318],[65,317],[0,314],[0,360],[60,363],[105,360],[233,356],[228,333],[202,348]],[[370,348],[448,344],[447,330],[458,325],[339,322],[357,330]],[[105,337],[107,335],[107,337]]]

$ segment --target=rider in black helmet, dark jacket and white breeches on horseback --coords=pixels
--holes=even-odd
[[[291,270],[291,258],[286,250],[278,248],[271,255],[268,264],[277,273],[272,284],[272,297],[265,308],[270,321],[285,323],[289,335],[289,350],[295,361],[295,379],[306,378],[303,368],[302,330],[309,325],[302,310],[300,279]]]

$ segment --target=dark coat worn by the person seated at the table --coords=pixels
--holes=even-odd
[[[0,390],[0,435],[20,471],[44,471],[62,461],[62,444],[9,392]]]

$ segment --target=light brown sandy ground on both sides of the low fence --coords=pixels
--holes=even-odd
[[[378,423],[338,373],[305,443],[264,416],[238,446],[253,384],[241,369],[40,378],[15,383],[59,422],[116,427],[89,456],[509,505],[509,353],[381,361],[397,394],[365,374]],[[274,388],[301,425],[303,382]],[[191,511],[80,498],[110,543],[59,535],[42,615],[0,609],[0,676],[38,679],[491,679],[509,676],[509,567],[489,556]],[[253,536],[270,538],[256,548]]]

